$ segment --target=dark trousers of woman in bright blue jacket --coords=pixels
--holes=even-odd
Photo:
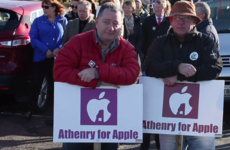
[[[34,62],[32,69],[31,91],[28,99],[29,111],[36,112],[38,110],[38,95],[40,93],[44,78],[47,76],[49,82],[49,92],[53,95],[53,58],[45,59],[41,62]]]

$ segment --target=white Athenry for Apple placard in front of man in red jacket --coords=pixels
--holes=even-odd
[[[91,89],[55,82],[54,93],[54,142],[142,142],[142,85]]]

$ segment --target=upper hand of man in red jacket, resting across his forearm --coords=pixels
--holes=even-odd
[[[87,68],[78,73],[78,76],[82,81],[90,82],[91,80],[96,78],[96,69],[95,68]]]

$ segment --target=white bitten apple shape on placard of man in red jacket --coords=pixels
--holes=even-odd
[[[100,110],[104,111],[104,122],[108,121],[111,116],[111,113],[108,111],[108,105],[110,101],[108,99],[102,99],[104,96],[105,92],[101,92],[101,94],[99,95],[99,99],[91,99],[87,104],[87,112],[89,118],[93,122],[96,122],[97,114]],[[95,107],[97,109],[95,109]],[[98,118],[98,121],[102,121],[102,118]]]

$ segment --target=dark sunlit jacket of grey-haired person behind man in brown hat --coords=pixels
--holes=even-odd
[[[208,36],[213,38],[213,40],[216,42],[218,46],[218,50],[220,50],[220,42],[219,42],[218,33],[216,31],[216,28],[213,25],[211,18],[202,21],[201,23],[196,25],[196,28],[197,28],[197,31],[207,34]]]

